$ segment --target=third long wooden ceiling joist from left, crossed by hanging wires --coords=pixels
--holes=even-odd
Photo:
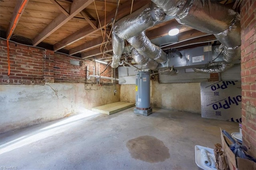
[[[139,8],[145,6],[148,4],[150,0],[134,0],[133,3],[133,11],[138,10]],[[131,7],[132,1],[127,1],[124,4],[120,5],[118,7],[118,14],[116,16],[116,21],[129,15],[130,14],[130,7]],[[112,22],[112,18],[114,18],[116,13],[116,9],[110,11],[106,16],[106,24],[110,24]],[[105,16],[100,17],[100,24],[102,27],[105,26]],[[99,26],[100,27],[100,26]],[[85,26],[84,28],[81,28],[77,32],[74,32],[70,36],[64,38],[60,42],[54,44],[54,51],[57,51],[59,49],[62,49],[66,47],[67,45],[70,45],[78,40],[81,40],[82,38],[85,38],[86,36],[89,36],[97,31],[99,31],[101,28],[97,28],[96,30],[92,30],[90,25]]]

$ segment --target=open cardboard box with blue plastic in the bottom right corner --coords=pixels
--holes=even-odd
[[[256,170],[256,163],[250,160],[246,160],[243,158],[237,158],[237,165],[236,165],[236,158],[235,154],[230,150],[228,146],[228,139],[222,134],[222,130],[220,129],[220,137],[222,142],[222,148],[226,153],[226,162],[228,162],[228,167],[230,170]]]

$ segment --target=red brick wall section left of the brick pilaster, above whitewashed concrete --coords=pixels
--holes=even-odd
[[[43,53],[37,48],[9,43],[10,76],[8,76],[8,60],[6,41],[0,46],[0,81],[1,84],[42,84]]]

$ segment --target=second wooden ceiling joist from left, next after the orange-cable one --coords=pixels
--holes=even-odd
[[[45,38],[50,36],[53,32],[58,30],[61,26],[63,26],[66,22],[72,19],[76,14],[90,5],[93,0],[74,0],[70,6],[70,16],[66,16],[63,13],[60,13],[50,24],[48,24],[42,32],[40,32],[33,40],[33,45],[38,45],[38,43],[42,42]]]

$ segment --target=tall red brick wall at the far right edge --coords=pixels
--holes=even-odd
[[[242,134],[256,157],[256,1],[241,6]]]

